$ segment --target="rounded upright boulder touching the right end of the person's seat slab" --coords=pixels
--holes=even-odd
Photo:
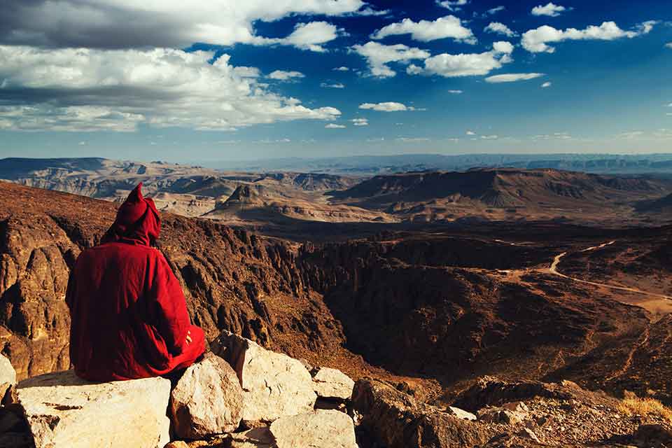
[[[203,439],[235,431],[241,420],[243,391],[229,363],[207,353],[177,381],[170,415],[181,439]]]

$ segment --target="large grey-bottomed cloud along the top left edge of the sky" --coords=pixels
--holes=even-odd
[[[258,20],[366,11],[362,0],[210,0],[197,7],[182,0],[11,1],[3,4],[0,43],[116,49],[184,48],[195,42],[267,45],[279,40],[258,36],[254,28]],[[311,48],[333,36],[325,25],[307,29],[309,24],[302,25],[285,43],[295,41],[297,46]]]

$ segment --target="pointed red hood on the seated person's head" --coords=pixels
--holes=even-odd
[[[102,243],[125,241],[149,246],[158,239],[161,219],[154,201],[142,196],[142,182],[128,195]]]

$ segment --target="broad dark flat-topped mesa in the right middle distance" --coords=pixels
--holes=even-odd
[[[411,221],[573,218],[601,222],[633,214],[630,203],[658,198],[672,183],[554,169],[472,169],[375,176],[332,194],[337,204],[385,211]],[[605,207],[609,204],[609,207]],[[617,213],[616,213],[617,212]]]

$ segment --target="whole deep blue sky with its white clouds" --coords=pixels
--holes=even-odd
[[[10,5],[0,156],[672,150],[669,1],[183,3]]]

